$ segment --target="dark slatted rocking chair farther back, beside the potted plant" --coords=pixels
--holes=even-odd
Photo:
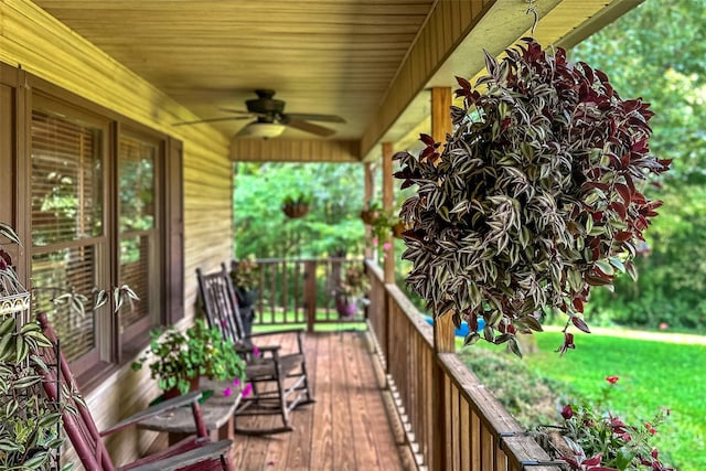
[[[225,264],[222,264],[220,271],[207,275],[196,269],[196,277],[208,324],[221,329],[223,336],[236,344],[246,361],[245,376],[253,392],[243,397],[235,411],[235,431],[245,435],[290,431],[289,413],[298,406],[314,402],[307,376],[303,331],[290,329],[244,335],[235,290]],[[253,341],[271,335],[296,335],[297,350],[282,354],[280,345],[253,344]],[[281,426],[238,427],[237,417],[260,415],[279,415]]]

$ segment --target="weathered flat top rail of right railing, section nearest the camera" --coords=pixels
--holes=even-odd
[[[533,471],[560,471],[546,451],[530,437],[475,374],[468,370],[456,353],[439,353],[439,364],[481,421],[490,429],[501,448],[516,462]]]

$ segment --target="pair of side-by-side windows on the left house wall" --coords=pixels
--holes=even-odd
[[[120,363],[127,345],[143,346],[152,327],[181,317],[173,312],[182,307],[171,306],[170,285],[181,290],[183,274],[174,277],[170,271],[165,277],[164,268],[181,267],[181,246],[173,246],[168,227],[169,221],[181,220],[181,207],[174,206],[181,200],[171,196],[181,185],[165,179],[175,165],[165,164],[167,153],[180,147],[157,133],[124,130],[128,128],[99,114],[44,96],[33,101],[30,181],[35,309],[52,317],[72,368],[79,375],[89,370],[95,374],[96,367]],[[181,162],[180,158],[172,160]],[[95,288],[121,285],[129,285],[140,301],[122,309],[117,322],[110,308],[93,312],[92,299],[85,302],[85,315],[52,303],[67,289],[89,295]]]

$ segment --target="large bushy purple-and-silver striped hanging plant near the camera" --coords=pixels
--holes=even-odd
[[[467,344],[507,342],[520,355],[515,334],[541,331],[543,313],[558,309],[564,353],[570,324],[589,331],[590,289],[637,276],[631,259],[661,205],[642,184],[670,160],[650,153],[649,104],[621,99],[606,74],[561,49],[524,42],[500,62],[485,53],[475,87],[457,78],[463,106],[451,108],[442,148],[422,135],[418,157],[394,157],[402,188],[418,185],[400,212],[410,225],[403,257],[435,315],[469,322]]]

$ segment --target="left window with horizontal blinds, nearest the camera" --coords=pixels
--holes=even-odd
[[[32,287],[35,307],[52,313],[69,361],[98,361],[96,317],[72,315],[52,299],[66,289],[90,293],[103,274],[106,128],[32,114]]]

